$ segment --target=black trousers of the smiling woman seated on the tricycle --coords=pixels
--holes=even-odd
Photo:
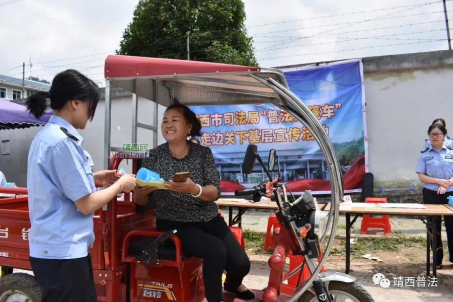
[[[223,217],[217,215],[203,223],[157,220],[159,231],[177,230],[183,252],[203,259],[203,279],[208,302],[222,299],[222,274],[225,282],[238,287],[250,271],[250,260]]]

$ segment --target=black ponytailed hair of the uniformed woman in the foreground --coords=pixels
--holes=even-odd
[[[101,97],[99,87],[77,70],[67,69],[55,75],[49,92],[38,92],[27,98],[27,110],[36,118],[46,110],[46,99],[50,98],[50,108],[61,109],[68,101],[88,102],[88,116],[93,120]]]

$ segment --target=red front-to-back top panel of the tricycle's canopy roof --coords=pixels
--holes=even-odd
[[[173,74],[260,71],[260,67],[126,55],[107,56],[104,68],[105,78],[110,79]]]

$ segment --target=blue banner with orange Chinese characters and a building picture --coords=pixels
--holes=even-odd
[[[290,90],[313,112],[329,135],[343,171],[345,192],[360,192],[367,167],[365,100],[361,60],[283,69]],[[193,106],[221,179],[222,194],[257,185],[268,177],[259,164],[245,175],[247,146],[258,146],[267,164],[269,150],[280,161],[282,182],[293,192],[330,193],[330,173],[313,135],[271,104]],[[275,170],[276,171],[276,170]],[[275,172],[274,171],[274,172]]]

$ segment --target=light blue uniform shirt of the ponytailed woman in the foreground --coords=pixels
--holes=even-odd
[[[94,242],[94,213],[84,215],[74,204],[96,191],[82,141],[72,125],[52,115],[31,143],[27,172],[31,257],[81,258]]]

